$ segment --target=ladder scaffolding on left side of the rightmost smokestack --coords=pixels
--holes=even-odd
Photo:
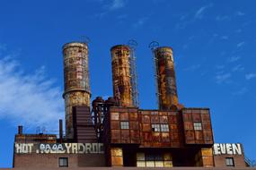
[[[152,52],[152,58],[153,58],[153,67],[154,67],[154,87],[155,87],[155,97],[156,97],[156,106],[161,106],[161,100],[159,99],[161,97],[161,93],[158,88],[158,76],[159,76],[159,69],[157,64],[157,57],[154,55],[154,50],[159,47],[159,43],[157,41],[152,41],[148,47],[151,49]]]

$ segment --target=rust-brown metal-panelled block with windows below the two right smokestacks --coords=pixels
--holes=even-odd
[[[102,142],[109,154],[109,166],[214,166],[207,108],[160,111],[110,106],[106,112]],[[122,158],[112,155],[117,146]],[[137,158],[136,165],[134,159],[139,154],[149,158]],[[164,154],[172,157],[166,160]]]

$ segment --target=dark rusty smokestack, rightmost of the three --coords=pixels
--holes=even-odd
[[[155,48],[154,64],[159,109],[166,110],[178,106],[172,47]]]

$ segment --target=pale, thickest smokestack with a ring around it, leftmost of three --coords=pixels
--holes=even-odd
[[[63,58],[66,138],[73,139],[73,106],[90,106],[91,89],[87,44],[73,42],[64,45]]]

